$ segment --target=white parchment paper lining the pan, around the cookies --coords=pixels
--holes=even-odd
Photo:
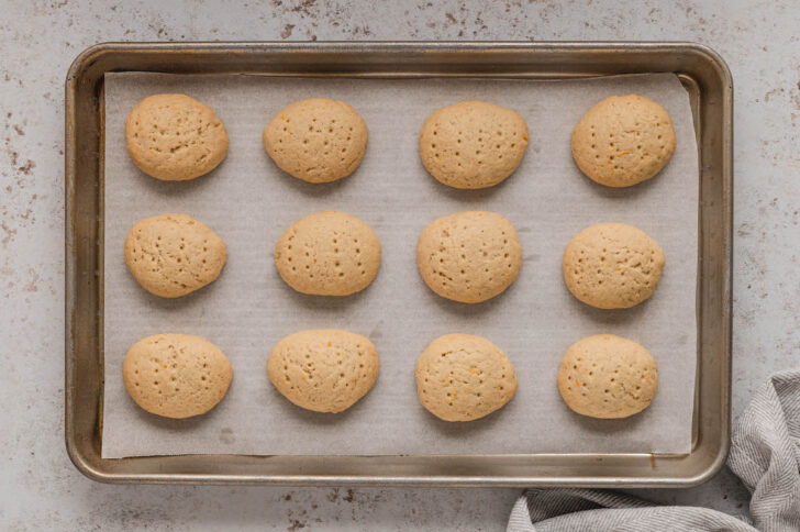
[[[224,122],[230,153],[215,171],[189,182],[162,182],[130,160],[125,118],[136,102],[158,92],[198,98]],[[604,188],[573,163],[571,130],[595,102],[631,92],[667,109],[678,148],[654,179],[629,189]],[[351,102],[369,128],[360,168],[335,184],[308,185],[282,174],[262,146],[268,120],[288,103],[311,97]],[[438,184],[419,157],[419,131],[427,114],[465,99],[514,109],[531,131],[522,166],[502,185],[482,191]],[[675,76],[530,81],[110,74],[105,120],[103,457],[690,450],[698,158],[688,96]],[[380,237],[380,271],[356,296],[303,296],[275,270],[274,246],[284,230],[302,215],[329,209],[357,215]],[[502,213],[522,242],[520,277],[507,292],[482,304],[440,298],[416,270],[420,232],[435,218],[460,210]],[[141,288],[122,254],[136,221],[170,212],[207,223],[229,251],[215,282],[177,300]],[[585,226],[603,221],[634,224],[665,251],[667,265],[658,289],[633,309],[591,309],[564,286],[564,246]],[[316,328],[357,332],[378,347],[378,383],[345,413],[301,410],[267,380],[273,345],[295,331]],[[204,336],[230,357],[233,384],[210,413],[184,421],[160,419],[138,409],[125,392],[125,353],[140,339],[160,332]],[[470,423],[447,423],[418,402],[416,357],[433,339],[451,332],[486,336],[511,358],[519,390],[502,410]],[[562,355],[571,343],[597,333],[635,340],[656,358],[658,394],[642,414],[591,420],[563,403],[555,379]]]

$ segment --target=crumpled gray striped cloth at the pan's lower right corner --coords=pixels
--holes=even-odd
[[[800,531],[800,369],[774,374],[733,428],[727,465],[753,498],[753,524],[698,507],[592,489],[529,489],[508,532]]]

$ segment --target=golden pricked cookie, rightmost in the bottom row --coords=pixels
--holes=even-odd
[[[614,419],[641,412],[658,388],[658,366],[636,342],[613,334],[569,346],[558,368],[558,391],[581,415]]]

